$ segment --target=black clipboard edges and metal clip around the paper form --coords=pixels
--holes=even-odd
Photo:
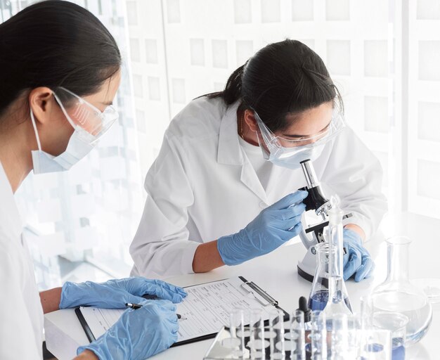
[[[242,291],[242,293],[245,293],[246,295],[252,296],[252,298],[254,298],[254,300],[257,300],[257,302],[259,304],[261,304],[261,306],[264,308],[275,307],[276,309],[280,309],[281,311],[283,311],[284,320],[287,321],[289,319],[289,314],[287,314],[287,312],[284,309],[281,309],[278,306],[278,301],[276,299],[274,299],[271,295],[266,293],[266,291],[261,289],[256,283],[254,283],[252,281],[247,281],[243,276],[238,276],[238,278],[240,279],[240,281],[242,281],[242,283],[240,284],[240,290]],[[200,287],[201,285],[210,285],[210,284],[214,284],[214,283],[221,283],[222,281],[228,281],[228,280],[229,279],[226,278],[226,279],[222,279],[219,281],[211,281],[211,282],[197,284],[197,285],[190,285],[185,288],[190,289],[190,288]],[[82,314],[82,311],[79,307],[75,309],[75,314],[77,315],[79,323],[81,323],[81,326],[84,329],[84,333],[86,333],[87,339],[89,339],[90,342],[93,342],[94,340],[96,340],[96,338],[93,335],[93,332],[91,331],[89,324],[87,323],[86,319],[84,318],[84,315]],[[266,326],[268,326],[268,320],[266,320],[264,323]],[[194,338],[190,338],[190,339],[186,339],[186,340],[180,340],[178,342],[175,342],[171,347],[177,347],[177,346],[181,346],[181,345],[191,344],[193,342],[198,342],[198,341],[202,341],[202,340],[215,338],[215,336],[219,332],[219,330],[221,330],[221,328],[219,328],[218,330],[216,330],[212,333],[208,333],[206,335],[195,336]]]

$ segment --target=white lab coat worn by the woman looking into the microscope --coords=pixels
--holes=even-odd
[[[262,209],[306,185],[302,169],[273,166],[266,190],[261,186],[238,141],[237,108],[238,103],[227,108],[221,99],[198,98],[169,124],[145,179],[148,198],[130,247],[132,275],[193,272],[200,243],[239,231]],[[337,193],[342,209],[354,214],[346,222],[361,226],[369,238],[387,210],[375,156],[347,128],[313,165],[326,194]]]

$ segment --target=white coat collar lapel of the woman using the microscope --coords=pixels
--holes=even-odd
[[[266,191],[264,191],[252,164],[243,156],[243,151],[238,141],[237,109],[239,105],[240,101],[230,105],[221,118],[217,162],[225,165],[241,165],[240,181],[250,188],[264,203],[267,203]]]

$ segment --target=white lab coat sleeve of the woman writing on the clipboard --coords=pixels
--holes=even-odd
[[[3,243],[0,253],[0,359],[40,360],[43,356],[42,344],[38,347],[34,341],[34,328],[22,293],[25,264]]]

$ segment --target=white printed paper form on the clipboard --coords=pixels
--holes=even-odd
[[[241,288],[243,281],[236,278],[214,281],[185,288],[188,296],[177,304],[179,320],[178,342],[217,333],[222,326],[229,325],[229,314],[235,307],[261,309],[267,320],[271,306],[265,307],[252,293]],[[247,287],[249,289],[249,287]],[[125,309],[98,309],[82,307],[81,312],[95,338],[103,335]]]

